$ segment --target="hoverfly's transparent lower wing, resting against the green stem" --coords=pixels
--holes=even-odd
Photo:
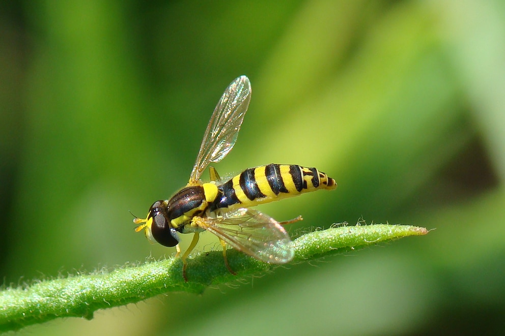
[[[261,261],[284,264],[294,257],[288,233],[264,213],[240,208],[219,218],[202,218],[198,225],[225,240],[236,250]]]

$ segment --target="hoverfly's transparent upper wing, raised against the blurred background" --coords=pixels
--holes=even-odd
[[[246,76],[236,78],[226,88],[210,117],[189,184],[200,178],[209,163],[221,161],[232,150],[250,99],[251,84]]]

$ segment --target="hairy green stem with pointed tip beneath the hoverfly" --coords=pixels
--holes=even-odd
[[[293,241],[293,262],[359,249],[378,242],[428,233],[425,228],[407,225],[340,226],[302,235]],[[235,250],[227,253],[230,266],[239,277],[275,267]],[[179,258],[126,265],[113,271],[77,274],[66,279],[44,280],[26,288],[6,288],[0,292],[0,331],[16,330],[57,317],[92,319],[98,309],[122,306],[171,292],[202,293],[211,284],[236,279],[214,251],[188,260],[186,283]]]

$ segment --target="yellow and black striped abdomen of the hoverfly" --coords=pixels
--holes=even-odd
[[[335,180],[316,168],[269,164],[244,170],[218,187],[218,208],[249,207],[318,189],[335,189]]]

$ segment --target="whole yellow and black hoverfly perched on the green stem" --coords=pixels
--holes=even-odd
[[[223,248],[228,270],[235,274],[226,257],[227,244],[259,260],[283,264],[291,261],[294,251],[291,239],[282,224],[264,213],[250,209],[319,189],[335,189],[335,180],[316,168],[297,165],[269,164],[248,168],[223,182],[214,167],[209,167],[210,182],[200,180],[211,162],[227,156],[237,141],[245,112],[251,98],[251,86],[246,76],[236,78],[219,100],[204,134],[197,160],[186,187],[169,200],[151,205],[145,219],[135,218],[136,232],[145,230],[152,242],[176,247],[180,255],[178,233],[193,233],[188,249],[182,255],[182,276],[187,282],[187,258],[198,243],[199,234],[210,231]]]

